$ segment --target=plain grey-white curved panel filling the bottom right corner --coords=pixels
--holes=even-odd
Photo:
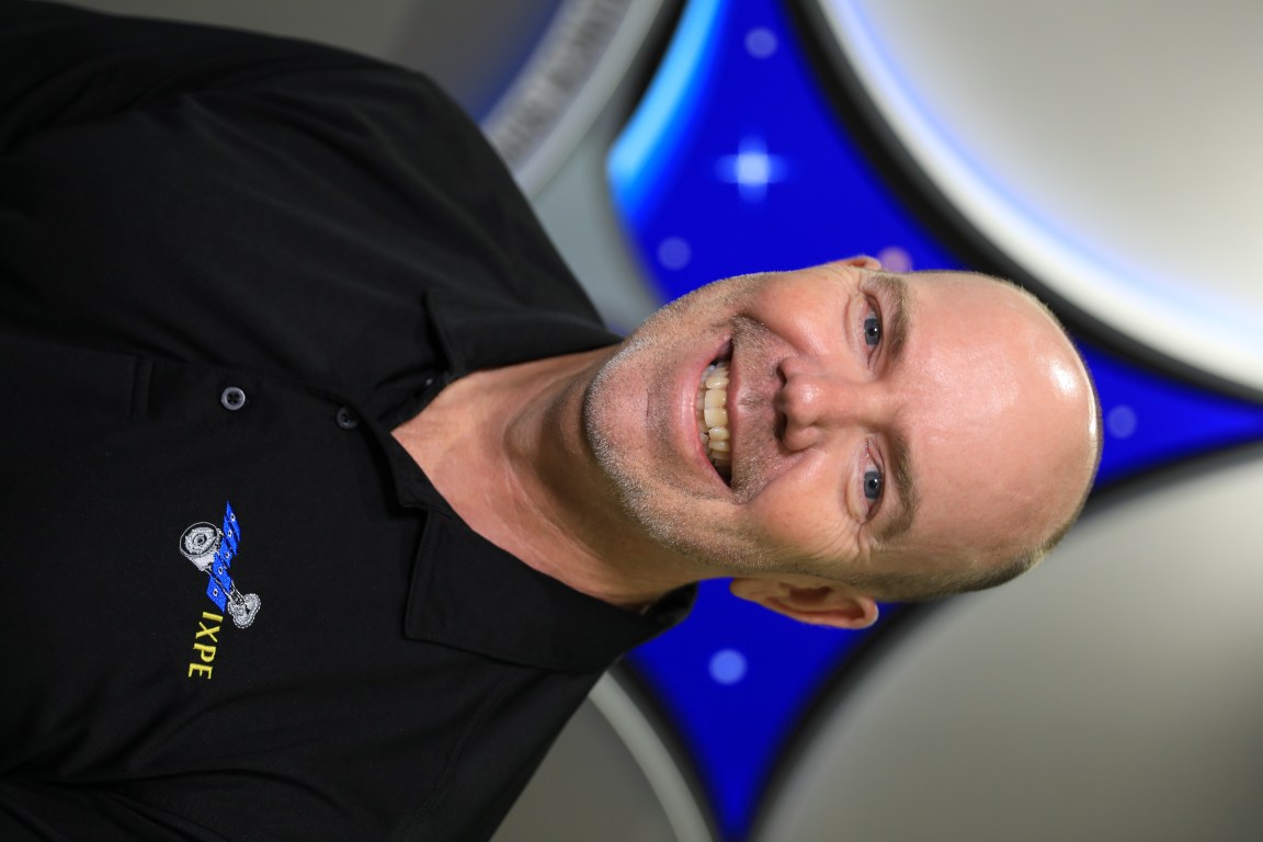
[[[1110,506],[909,631],[755,837],[1257,839],[1263,458]]]

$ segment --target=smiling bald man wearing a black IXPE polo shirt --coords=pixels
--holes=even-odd
[[[491,836],[623,653],[998,583],[1074,347],[870,259],[623,340],[477,127],[344,52],[0,0],[0,838]]]

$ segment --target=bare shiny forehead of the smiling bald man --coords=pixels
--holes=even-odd
[[[1024,544],[1047,519],[1056,483],[1042,478],[1056,473],[1050,456],[1065,437],[1048,400],[1051,322],[1023,293],[976,275],[870,279],[883,294],[898,282],[907,324],[888,376],[919,505],[888,549],[941,566],[966,549]]]

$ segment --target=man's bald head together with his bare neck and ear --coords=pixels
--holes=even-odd
[[[479,531],[586,593],[638,607],[734,577],[739,597],[858,629],[878,601],[1032,567],[1082,506],[1096,417],[1029,294],[855,258],[719,282],[620,346],[477,372],[395,436]]]

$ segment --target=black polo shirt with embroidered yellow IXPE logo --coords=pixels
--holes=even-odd
[[[690,595],[537,573],[390,429],[614,341],[418,76],[0,3],[0,838],[490,836]]]

